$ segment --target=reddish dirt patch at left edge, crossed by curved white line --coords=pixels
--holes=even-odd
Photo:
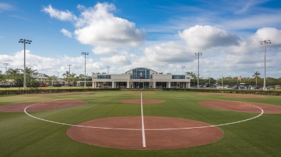
[[[39,112],[39,111],[48,111],[53,109],[64,109],[68,107],[76,107],[86,103],[87,102],[78,99],[57,100],[51,102],[23,102],[23,103],[7,104],[7,105],[0,106],[0,112],[24,112],[24,109],[31,104],[34,105],[28,107],[26,109],[26,112]]]

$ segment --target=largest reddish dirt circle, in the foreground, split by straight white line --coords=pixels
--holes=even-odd
[[[145,147],[143,147],[141,117],[110,117],[85,121],[77,125],[96,126],[103,129],[71,126],[66,134],[71,139],[85,144],[106,148],[141,150],[200,146],[218,141],[223,136],[223,131],[216,126],[200,129],[179,129],[210,126],[210,124],[200,121],[170,117],[143,117],[143,119]]]

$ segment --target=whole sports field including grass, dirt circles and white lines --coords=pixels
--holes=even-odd
[[[0,96],[0,156],[281,156],[281,97],[117,91]]]

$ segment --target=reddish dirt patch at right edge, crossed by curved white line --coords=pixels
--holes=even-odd
[[[271,105],[271,104],[259,104],[254,102],[232,102],[232,101],[203,101],[199,104],[205,107],[213,107],[215,109],[231,110],[237,112],[254,112],[260,113],[261,110],[257,107],[260,107],[265,114],[281,114],[281,107]],[[257,107],[254,107],[252,105]]]

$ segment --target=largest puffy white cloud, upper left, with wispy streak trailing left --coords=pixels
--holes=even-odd
[[[52,18],[61,21],[73,21],[76,28],[74,36],[87,45],[120,47],[141,45],[145,39],[144,29],[136,28],[136,24],[113,15],[116,7],[113,4],[98,3],[86,8],[78,5],[81,15],[76,17],[70,11],[53,9],[51,4],[43,11]]]

